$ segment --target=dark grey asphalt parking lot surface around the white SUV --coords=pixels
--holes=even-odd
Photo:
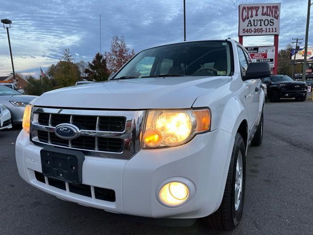
[[[0,234],[313,234],[313,102],[266,103],[263,144],[247,153],[243,220],[233,232],[156,226],[62,201],[17,172],[19,130],[0,132]],[[140,205],[138,205],[140,207]]]

